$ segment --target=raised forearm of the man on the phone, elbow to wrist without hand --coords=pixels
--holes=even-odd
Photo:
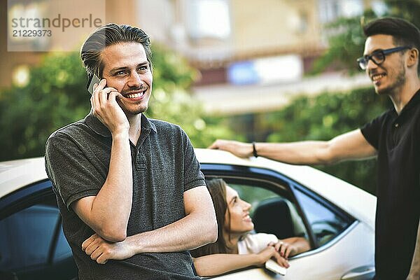
[[[109,241],[125,239],[132,207],[132,160],[128,133],[113,136],[106,181],[96,197],[82,200],[76,202],[74,209],[87,225]]]

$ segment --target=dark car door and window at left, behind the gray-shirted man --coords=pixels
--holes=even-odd
[[[0,278],[76,279],[50,181],[0,200]]]

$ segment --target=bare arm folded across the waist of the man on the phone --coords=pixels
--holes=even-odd
[[[104,240],[94,234],[82,244],[92,260],[124,260],[139,253],[186,251],[216,241],[217,223],[213,202],[206,186],[184,192],[186,216],[165,227],[141,232],[118,242]]]

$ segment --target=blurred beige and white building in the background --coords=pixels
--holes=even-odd
[[[64,2],[66,9],[80,8]],[[6,34],[6,4],[1,1],[1,34]],[[106,22],[136,25],[152,42],[180,52],[200,70],[194,92],[209,113],[235,114],[276,109],[290,94],[316,93],[327,84],[339,89],[367,83],[364,76],[307,79],[304,73],[328,48],[325,23],[381,7],[379,0],[106,0],[105,15]],[[0,87],[22,77],[25,66],[43,55],[8,52],[6,40],[1,36]],[[78,50],[82,41],[70,43]]]

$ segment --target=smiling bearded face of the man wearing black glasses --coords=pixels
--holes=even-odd
[[[393,37],[378,34],[369,36],[365,42],[363,55],[371,55],[375,50],[395,48]],[[385,61],[377,65],[369,60],[366,73],[373,82],[374,90],[378,94],[398,93],[405,84],[405,52],[393,52],[386,55]]]

